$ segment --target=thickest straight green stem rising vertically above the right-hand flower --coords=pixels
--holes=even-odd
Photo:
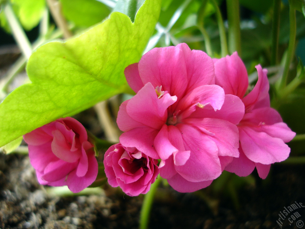
[[[228,12],[228,38],[229,51],[233,53],[237,51],[241,55],[241,37],[240,37],[240,19],[239,19],[239,1],[227,0]]]

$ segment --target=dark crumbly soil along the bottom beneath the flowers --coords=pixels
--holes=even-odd
[[[302,207],[283,214],[277,223],[284,207],[295,201],[305,205],[304,167],[275,164],[266,180],[256,172],[253,177],[249,184],[232,174],[218,190],[221,182],[215,180],[186,194],[162,184],[150,228],[304,228]],[[0,154],[0,228],[138,228],[143,195],[129,197],[107,185],[104,189],[100,194],[55,196],[38,184],[27,156]]]

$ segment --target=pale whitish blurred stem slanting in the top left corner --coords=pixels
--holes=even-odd
[[[29,59],[32,54],[32,46],[13,11],[12,5],[9,2],[6,3],[3,11],[19,48],[23,55]]]

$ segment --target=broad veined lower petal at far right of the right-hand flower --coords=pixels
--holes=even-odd
[[[288,158],[290,148],[282,139],[272,137],[265,132],[257,132],[248,126],[239,127],[242,150],[253,162],[264,165],[281,162]]]

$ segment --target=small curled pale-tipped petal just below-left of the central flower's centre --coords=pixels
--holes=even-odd
[[[168,140],[168,132],[168,126],[164,124],[154,140],[155,149],[162,160],[178,152],[178,149]]]

